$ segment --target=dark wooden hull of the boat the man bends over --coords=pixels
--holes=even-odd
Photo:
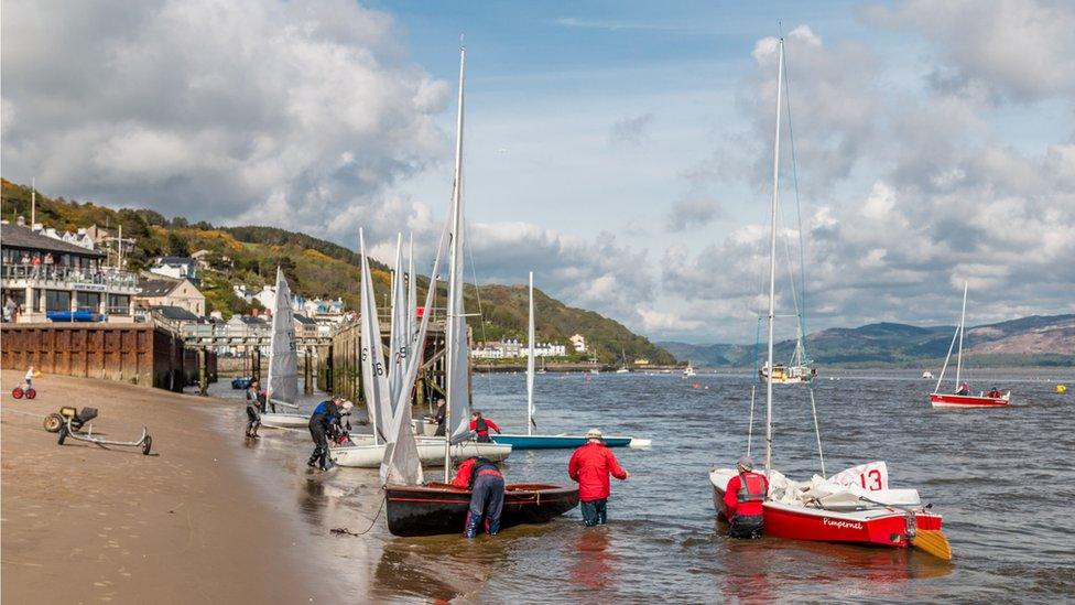
[[[394,536],[463,533],[470,491],[445,484],[384,488],[388,530]],[[500,527],[545,523],[578,506],[578,488],[508,484]]]

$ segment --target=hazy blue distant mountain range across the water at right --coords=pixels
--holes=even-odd
[[[806,352],[818,365],[922,367],[944,359],[955,326],[919,327],[878,323],[856,328],[834,327],[806,337]],[[681,361],[699,367],[753,367],[753,345],[691,345],[658,343]],[[777,344],[779,361],[791,358],[794,341]],[[1032,315],[968,327],[964,357],[991,366],[1075,366],[1075,315]],[[761,355],[763,345],[757,347]]]

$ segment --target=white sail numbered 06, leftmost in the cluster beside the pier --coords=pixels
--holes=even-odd
[[[361,345],[359,361],[362,366],[362,395],[370,420],[373,422],[373,441],[387,434],[392,422],[392,410],[389,401],[388,376],[384,367],[384,354],[381,350],[381,326],[377,318],[377,301],[373,294],[373,279],[370,273],[369,258],[366,256],[366,238],[362,229],[358,230],[359,253],[362,256],[362,288],[360,300]]]

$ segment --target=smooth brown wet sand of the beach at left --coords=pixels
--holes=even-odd
[[[0,573],[6,603],[325,603],[321,555],[243,469],[241,437],[216,425],[237,403],[104,380],[42,376],[34,401],[2,372]],[[72,442],[42,417],[94,407],[94,431],[153,455]],[[26,415],[33,414],[33,415]],[[241,433],[239,433],[241,434]],[[311,568],[315,569],[311,569]]]

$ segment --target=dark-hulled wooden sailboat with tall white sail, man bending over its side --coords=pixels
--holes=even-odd
[[[384,465],[388,478],[384,485],[386,516],[388,529],[395,536],[430,536],[441,533],[458,533],[463,529],[467,510],[470,506],[470,491],[448,484],[452,473],[449,451],[452,441],[464,435],[469,429],[469,364],[467,352],[467,324],[463,306],[463,86],[466,69],[466,48],[459,48],[459,107],[456,122],[455,148],[455,179],[452,192],[452,216],[446,228],[447,240],[442,237],[442,246],[437,251],[437,263],[441,250],[447,244],[448,253],[448,300],[446,322],[446,385],[445,407],[446,422],[452,431],[452,439],[444,440],[444,483],[422,485],[422,479],[414,473],[420,463],[410,451],[409,433],[401,431],[400,439],[393,447],[386,451]],[[431,276],[427,301],[432,300],[436,290],[437,270]],[[430,309],[430,302],[426,309]],[[423,316],[423,324],[426,316]],[[531,339],[531,347],[533,341]],[[402,445],[402,446],[401,446]],[[496,446],[511,451],[510,445],[497,443],[479,443],[479,446]],[[399,453],[398,453],[399,452]],[[475,454],[471,454],[475,455]],[[486,454],[481,454],[489,457]],[[406,471],[406,472],[401,472]],[[504,504],[500,525],[503,528],[519,523],[535,523],[550,521],[572,508],[578,506],[578,488],[575,486],[560,486],[550,484],[508,484],[504,486]]]

